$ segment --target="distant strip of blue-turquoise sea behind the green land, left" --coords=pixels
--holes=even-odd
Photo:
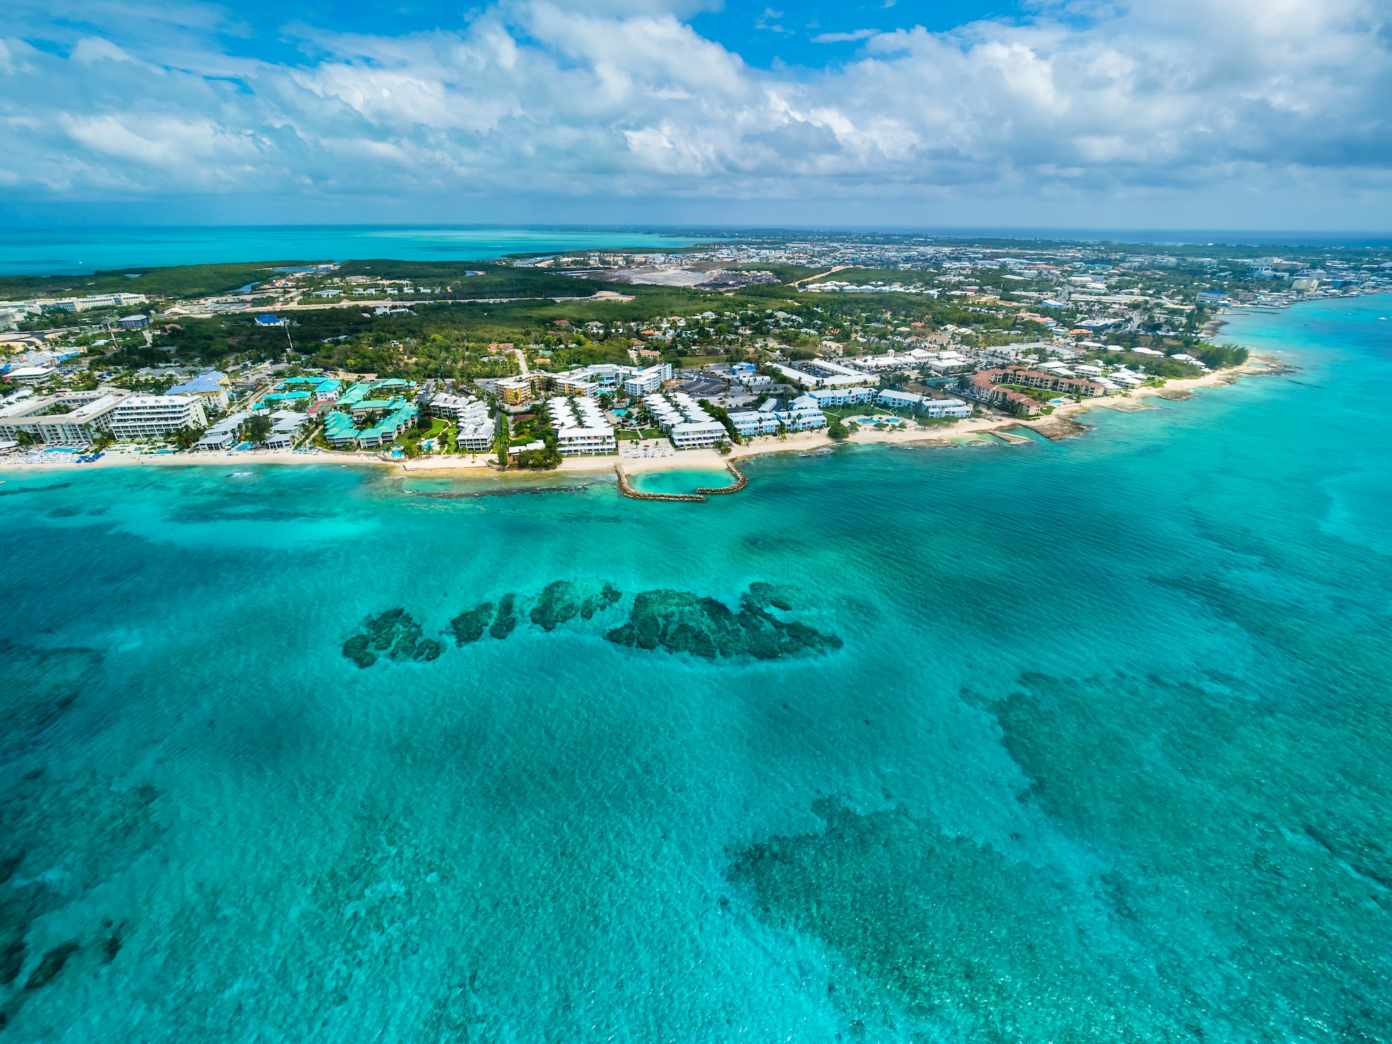
[[[493,260],[553,251],[670,251],[696,242],[644,230],[491,226],[0,228],[0,276],[262,260]]]

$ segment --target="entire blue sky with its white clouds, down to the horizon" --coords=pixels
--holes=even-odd
[[[1388,0],[8,0],[0,223],[1392,228]]]

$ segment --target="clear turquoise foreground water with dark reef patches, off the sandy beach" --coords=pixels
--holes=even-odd
[[[1386,315],[702,505],[0,475],[0,1037],[1392,1040]]]

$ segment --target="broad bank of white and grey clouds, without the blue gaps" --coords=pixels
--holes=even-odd
[[[29,8],[22,39],[0,42],[8,191],[913,205],[1367,193],[1392,168],[1378,0],[1048,3],[952,32],[823,33],[863,50],[799,72],[703,38],[699,1],[505,0],[406,36],[301,29],[295,60],[228,50],[223,15],[178,7],[148,36],[88,25],[65,57],[38,46]]]

